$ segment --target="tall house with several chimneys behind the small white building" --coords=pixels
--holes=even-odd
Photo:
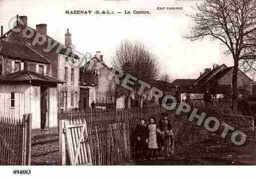
[[[47,35],[47,24],[37,24],[36,29],[28,26],[27,16],[18,16],[16,26],[0,37],[5,41],[29,44],[38,54],[47,58],[50,63],[46,74],[55,79],[63,80],[64,85],[57,85],[58,108],[66,110],[77,108],[79,101],[79,57],[72,53],[72,35],[67,30],[65,45]],[[18,30],[17,30],[18,29]],[[35,43],[39,39],[40,42]],[[42,43],[45,41],[44,43]],[[29,68],[29,67],[28,67]],[[31,64],[33,72],[37,66]]]

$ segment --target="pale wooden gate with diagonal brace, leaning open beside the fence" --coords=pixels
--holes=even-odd
[[[70,164],[92,165],[86,122],[74,124],[71,120],[65,120],[64,132]]]

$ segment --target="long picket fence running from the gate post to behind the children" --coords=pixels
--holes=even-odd
[[[88,139],[92,165],[120,165],[131,160],[132,134],[138,120],[141,118],[148,120],[150,116],[160,116],[163,112],[166,112],[163,107],[155,106],[91,113],[79,111],[59,113],[60,165],[66,165],[67,161],[70,161],[70,159],[66,160],[66,156],[69,155],[66,154],[67,129],[64,127],[64,121],[68,121],[68,124],[87,125],[87,134],[84,133],[84,138]]]

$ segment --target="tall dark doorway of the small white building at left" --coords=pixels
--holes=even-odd
[[[49,130],[49,88],[41,86],[40,92],[41,129],[46,131]]]

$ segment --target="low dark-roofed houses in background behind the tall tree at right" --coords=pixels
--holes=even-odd
[[[202,99],[207,89],[211,91],[214,98],[229,99],[232,96],[232,73],[234,67],[225,64],[214,64],[213,69],[206,68],[200,72],[197,79],[177,79],[172,84],[178,90],[179,101],[186,99]],[[238,87],[240,92],[252,95],[253,80],[244,72],[238,72]]]

